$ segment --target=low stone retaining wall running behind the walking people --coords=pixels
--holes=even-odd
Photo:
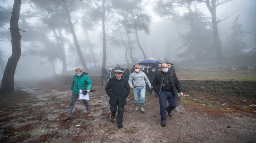
[[[100,85],[100,76],[90,76],[92,83]],[[73,76],[53,76],[58,84],[70,85]],[[199,90],[222,95],[256,96],[256,81],[225,81],[225,80],[180,80],[184,92]]]

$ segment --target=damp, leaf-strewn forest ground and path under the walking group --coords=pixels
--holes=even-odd
[[[181,75],[180,75],[181,76]],[[146,94],[145,113],[127,97],[123,128],[110,119],[105,85],[93,85],[91,114],[77,100],[72,119],[61,121],[70,104],[69,85],[50,80],[16,82],[14,93],[0,95],[2,143],[255,143],[256,98],[187,92],[161,126],[159,99]],[[117,114],[117,113],[116,113]]]

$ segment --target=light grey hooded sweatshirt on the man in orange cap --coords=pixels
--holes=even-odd
[[[139,73],[131,73],[128,83],[130,86],[133,85],[136,88],[145,87],[146,83],[148,86],[151,85],[147,75],[141,71]]]

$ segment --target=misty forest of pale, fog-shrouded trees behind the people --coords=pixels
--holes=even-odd
[[[93,73],[107,68],[110,61],[131,59],[126,64],[131,68],[147,57],[160,62],[221,62],[256,45],[254,0],[1,0],[0,4],[2,83],[67,75],[78,67]],[[16,28],[12,28],[14,16]]]

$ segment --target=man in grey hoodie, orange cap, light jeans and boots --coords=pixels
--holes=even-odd
[[[135,111],[138,111],[139,103],[140,110],[145,112],[144,104],[145,104],[145,93],[146,93],[146,83],[151,89],[151,83],[147,78],[147,75],[144,72],[140,71],[140,66],[134,67],[135,72],[131,73],[128,83],[130,88],[133,89],[134,95],[134,103],[135,103]],[[139,102],[140,99],[140,102]]]

